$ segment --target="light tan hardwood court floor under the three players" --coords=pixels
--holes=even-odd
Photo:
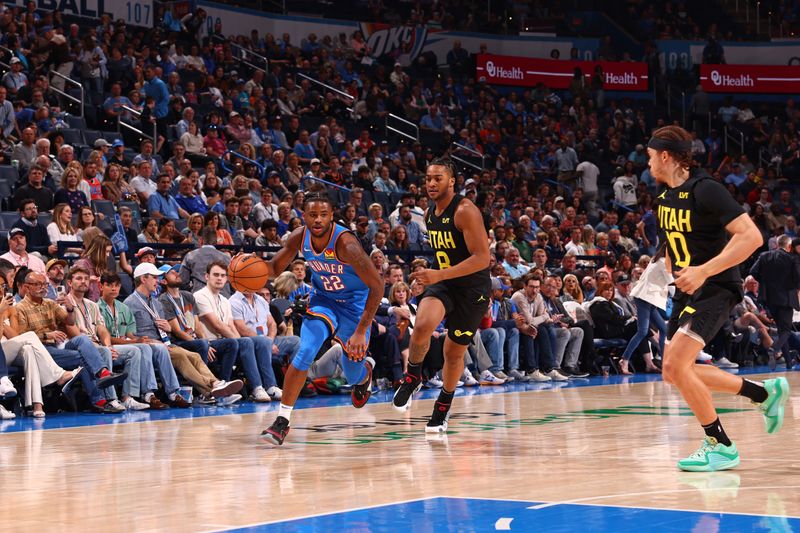
[[[800,391],[800,375],[787,377]],[[388,393],[360,411],[344,399],[296,409],[280,448],[256,440],[276,405],[218,409],[220,416],[202,416],[200,409],[136,413],[135,419],[94,418],[104,424],[85,427],[70,427],[69,420],[89,415],[50,415],[46,424],[68,423],[42,430],[30,420],[6,422],[0,426],[0,530],[221,530],[436,497],[480,499],[456,513],[467,526],[453,529],[465,531],[502,525],[465,511],[495,499],[545,502],[537,508],[554,508],[546,505],[552,502],[710,512],[697,515],[702,520],[717,513],[800,517],[796,395],[778,435],[766,435],[747,400],[715,395],[742,464],[689,474],[675,461],[694,451],[701,431],[677,392],[661,381],[611,381],[616,384],[600,386],[604,381],[595,378],[598,386],[465,390],[456,397],[446,441],[424,435],[432,393],[407,415],[392,410]],[[126,420],[131,423],[121,423]],[[406,527],[393,521],[397,516],[368,518],[361,530],[441,530],[424,520]],[[547,530],[603,529],[564,516],[567,522]],[[342,524],[339,530],[348,530]],[[524,529],[521,524],[513,529]]]

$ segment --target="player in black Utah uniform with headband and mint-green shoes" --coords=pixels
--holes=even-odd
[[[759,404],[767,432],[774,433],[783,424],[789,384],[785,378],[759,383],[695,364],[698,352],[741,301],[739,264],[761,246],[762,237],[725,187],[693,168],[691,141],[683,128],[666,126],[653,133],[647,152],[653,177],[665,186],[657,199],[659,231],[677,288],[667,328],[664,380],[678,388],[706,433],[700,448],[678,461],[678,468],[711,472],[739,464],[739,452],[722,428],[711,391],[750,398]]]

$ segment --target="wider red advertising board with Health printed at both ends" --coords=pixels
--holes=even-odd
[[[531,57],[478,56],[478,79],[495,85],[534,87],[544,83],[552,89],[568,89],[575,69],[579,68],[590,81],[596,66],[603,71],[603,88],[607,91],[646,91],[647,65],[633,62],[560,61]]]

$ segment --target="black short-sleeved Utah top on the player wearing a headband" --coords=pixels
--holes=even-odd
[[[662,191],[656,203],[659,238],[667,242],[674,270],[702,265],[719,255],[728,244],[725,226],[744,213],[730,192],[701,170],[693,170],[679,187]],[[739,266],[708,280],[741,283]]]

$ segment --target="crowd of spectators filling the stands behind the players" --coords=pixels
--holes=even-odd
[[[48,374],[50,383],[66,380],[67,393],[80,377],[91,405],[104,412],[183,407],[180,375],[201,401],[232,402],[243,387],[235,370],[256,401],[279,398],[309,292],[302,258],[257,295],[233,294],[224,271],[241,249],[270,257],[302,225],[308,180],[328,186],[337,221],[385,277],[370,350],[376,377],[390,386],[404,371],[424,289],[405,281],[431,257],[425,169],[442,153],[465,163],[456,190],[482,209],[492,251],[493,298],[463,384],[597,373],[609,339],[635,339],[620,372],[658,370],[663,329],[653,316],[652,331],[642,331],[629,298],[658,244],[656,185],[644,146],[666,120],[646,101],[615,99],[602,86],[577,82],[567,91],[500,90],[474,80],[460,43],[439,69],[424,54],[363,62],[357,34],[309,35],[296,45],[288,34],[257,32],[200,40],[202,10],[180,31],[143,32],[108,17],[97,27],[67,26],[57,13],[34,7],[7,7],[0,18],[0,44],[14,55],[11,74],[0,81],[2,169],[18,176],[4,199],[16,215],[3,213],[14,220],[0,260],[0,283],[16,295],[8,313],[18,318],[4,333],[11,339],[33,331],[63,368],[86,368]],[[269,69],[237,60],[232,40],[267,55]],[[100,111],[87,115],[91,128],[113,129],[121,115],[155,135],[110,132],[89,142],[86,132],[76,134],[63,115],[67,103],[49,90],[48,69],[93,87],[88,102]],[[384,135],[379,125],[388,113],[419,124],[420,138]],[[792,100],[777,118],[731,101],[711,131],[700,131],[703,121],[688,125],[697,134],[697,162],[751,213],[765,249],[780,235],[796,236],[798,118]],[[734,125],[746,135],[745,153],[725,151],[719,132]],[[227,297],[229,304],[215,305]],[[42,301],[49,302],[47,316],[23,313]],[[718,364],[746,360],[731,347],[736,328],[753,328],[756,344],[766,346],[769,319],[750,303],[742,315],[750,314],[738,325],[742,317],[732,317],[729,337],[715,348]],[[259,307],[271,313],[250,312]],[[126,315],[132,318],[120,322]],[[445,328],[426,358],[430,386],[441,383]],[[341,378],[328,365],[335,350],[312,372],[307,394],[341,385],[330,382]],[[7,354],[12,369],[17,357]],[[108,380],[96,383],[120,379],[115,368],[127,372],[120,400]],[[153,368],[160,396],[153,394]],[[0,392],[11,383],[4,377]],[[37,399],[26,394],[26,406],[42,413]]]

